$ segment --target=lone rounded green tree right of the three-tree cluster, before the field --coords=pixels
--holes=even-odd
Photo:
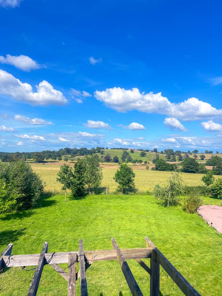
[[[134,188],[134,178],[135,174],[133,170],[126,163],[120,165],[120,168],[116,171],[113,177],[113,179],[119,184],[123,193],[126,188]]]

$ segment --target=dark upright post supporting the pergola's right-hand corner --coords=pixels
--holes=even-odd
[[[160,278],[160,269],[159,262],[156,257],[156,250],[152,249],[151,258],[150,258],[150,296],[159,296],[159,278]]]

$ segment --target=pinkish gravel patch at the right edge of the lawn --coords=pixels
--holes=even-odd
[[[222,207],[201,206],[197,210],[198,214],[217,232],[222,233]]]

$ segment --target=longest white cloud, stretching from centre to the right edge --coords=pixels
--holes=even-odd
[[[222,116],[222,109],[216,109],[197,98],[192,97],[181,103],[171,103],[167,97],[162,96],[161,92],[145,93],[140,92],[138,88],[107,88],[105,91],[95,91],[94,96],[98,101],[118,112],[135,109],[146,113],[166,114],[184,121]]]

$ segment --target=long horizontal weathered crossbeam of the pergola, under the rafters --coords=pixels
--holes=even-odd
[[[139,249],[121,249],[121,253],[125,259],[136,259],[136,258],[150,258],[151,248],[139,248]],[[45,259],[48,261],[51,258],[50,265],[68,263],[68,254],[77,254],[77,262],[79,262],[79,252],[64,252],[46,253]],[[117,252],[115,250],[98,250],[98,251],[85,251],[85,256],[88,261],[103,261],[103,260],[117,260]],[[27,254],[27,255],[12,255],[8,267],[15,266],[32,266],[37,265],[40,254]],[[6,262],[9,256],[4,256],[3,260]]]

